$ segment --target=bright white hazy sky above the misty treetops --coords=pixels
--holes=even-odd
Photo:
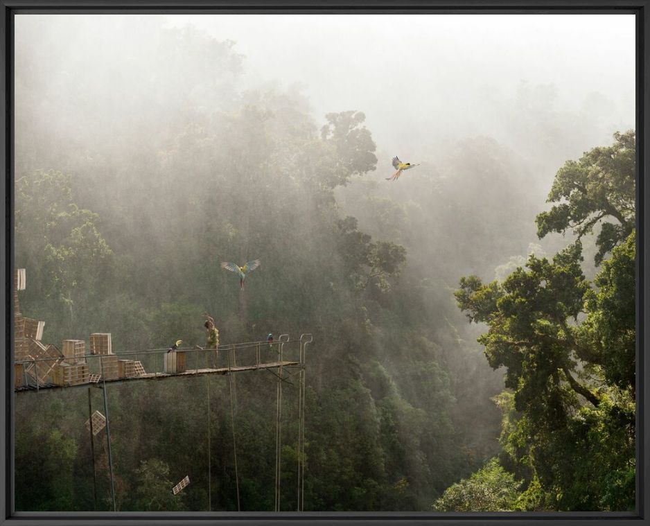
[[[512,96],[522,80],[553,84],[563,106],[611,100],[634,125],[633,15],[168,15],[246,55],[245,82],[305,86],[315,116],[361,109],[378,143],[410,121],[472,130],[487,91]],[[407,134],[405,140],[412,141]],[[426,141],[423,140],[425,143]],[[410,148],[408,148],[410,149]]]

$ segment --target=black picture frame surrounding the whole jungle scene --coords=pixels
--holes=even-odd
[[[611,526],[649,525],[650,488],[650,141],[646,130],[650,129],[650,0],[0,0],[0,33],[2,35],[0,58],[2,61],[2,82],[0,82],[3,110],[1,112],[0,158],[2,180],[0,229],[2,257],[1,272],[5,277],[0,304],[2,326],[2,356],[0,363],[0,406],[3,415],[0,430],[0,525],[67,525],[93,524],[124,526],[164,523],[169,526],[193,524],[237,524],[291,523],[308,525],[313,523],[336,525],[370,525],[396,523],[400,525],[482,525],[507,523],[522,526],[532,523],[592,526],[607,523]],[[636,132],[637,132],[637,353],[636,392],[637,412],[637,507],[634,512],[588,513],[261,513],[261,512],[207,512],[169,514],[147,514],[140,512],[63,512],[33,513],[13,511],[13,358],[12,349],[13,315],[12,294],[13,273],[13,17],[25,13],[421,13],[440,14],[579,14],[579,13],[629,13],[636,17]]]

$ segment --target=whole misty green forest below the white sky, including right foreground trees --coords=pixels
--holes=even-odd
[[[401,120],[387,87],[328,105],[164,17],[18,18],[15,265],[44,342],[205,345],[204,313],[222,344],[313,334],[305,511],[634,509],[633,96],[468,82],[481,111],[437,102],[481,123],[464,128]],[[350,63],[331,76],[362,83]],[[412,76],[395,96],[439,98]],[[394,156],[419,166],[387,181]],[[243,289],[220,268],[255,259]],[[204,376],[109,387],[118,511],[272,511],[276,383],[236,375],[234,421],[227,375],[209,405]],[[112,509],[87,392],[16,394],[17,511]]]

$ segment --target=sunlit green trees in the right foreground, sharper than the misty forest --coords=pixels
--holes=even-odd
[[[578,240],[502,282],[464,277],[455,292],[488,327],[490,365],[506,368],[502,457],[529,483],[525,509],[635,505],[634,134],[615,139],[559,170],[549,200],[567,203],[537,218],[539,236],[575,227]],[[596,225],[601,270],[589,281],[580,238]]]

